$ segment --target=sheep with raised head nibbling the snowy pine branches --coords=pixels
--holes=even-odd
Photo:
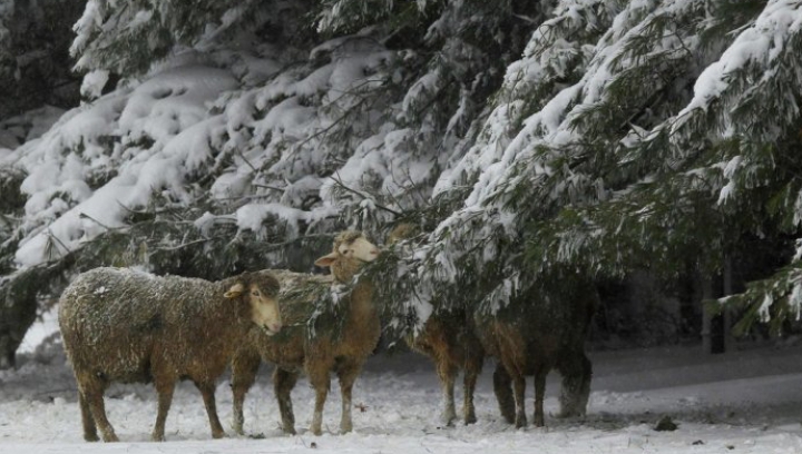
[[[331,372],[338,374],[342,394],[340,432],[348,433],[353,430],[353,384],[363,363],[378,345],[381,334],[379,314],[372,302],[371,283],[360,279],[350,294],[341,297],[338,303],[344,309],[341,319],[326,319],[315,326],[310,326],[310,319],[314,310],[315,295],[321,295],[321,290],[329,292],[332,284],[350,283],[365,263],[378,256],[379,249],[363,234],[343,231],[334,239],[332,253],[315,261],[317,266],[331,268],[331,276],[275,272],[282,283],[280,304],[283,310],[293,314],[287,317],[287,322],[295,326],[274,338],[252,332],[248,342],[234,355],[232,391],[236,433],[243,434],[243,402],[254,383],[261,359],[276,366],[273,372],[273,386],[284,433],[295,434],[295,416],[290,394],[302,372],[309,376],[315,391],[310,432],[314,435],[322,434],[323,406],[329,393]]]

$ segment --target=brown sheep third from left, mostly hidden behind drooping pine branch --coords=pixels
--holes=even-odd
[[[399,224],[388,234],[387,245],[392,246],[400,240],[409,239],[418,234],[418,228],[411,224]],[[485,348],[476,334],[472,317],[464,308],[452,308],[447,312],[431,314],[417,333],[404,337],[409,347],[428,356],[433,363],[443,395],[442,421],[446,425],[453,425],[457,420],[454,408],[454,382],[457,374],[462,369],[462,418],[464,424],[477,422],[473,406],[473,391],[477,378],[481,374],[485,363]],[[507,406],[502,406],[507,409]],[[502,415],[512,422],[511,412]]]

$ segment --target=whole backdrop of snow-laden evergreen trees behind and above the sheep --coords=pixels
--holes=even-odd
[[[401,223],[388,333],[566,269],[602,347],[710,342],[722,303],[793,332],[801,7],[0,0],[0,367],[81,270],[312,272]]]

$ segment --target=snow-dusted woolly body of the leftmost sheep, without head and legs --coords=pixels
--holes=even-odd
[[[59,324],[76,372],[113,382],[149,382],[151,362],[180,375],[217,376],[251,324],[244,298],[227,299],[227,284],[159,277],[124,268],[81,274],[65,290]],[[241,325],[232,330],[232,325]],[[217,358],[217,359],[215,359]]]

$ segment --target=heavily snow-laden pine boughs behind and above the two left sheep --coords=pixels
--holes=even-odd
[[[340,228],[436,224],[434,182],[541,13],[395,2],[354,21],[348,2],[173,3],[87,2],[72,50],[96,99],[0,161],[25,204],[4,288],[101,264],[307,270]]]

